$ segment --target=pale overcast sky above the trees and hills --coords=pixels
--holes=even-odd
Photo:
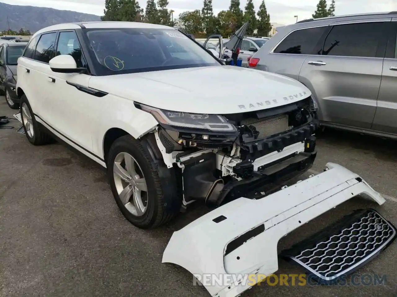
[[[241,9],[247,3],[247,0],[241,1]],[[0,2],[14,5],[31,5],[52,7],[60,10],[73,10],[96,15],[103,15],[104,0],[0,0]],[[202,0],[169,0],[168,8],[175,11],[174,18],[179,13],[186,10],[195,10],[202,8]],[[255,10],[259,8],[262,0],[254,0]],[[328,3],[331,0],[327,1]],[[344,15],[350,13],[367,13],[397,10],[397,0],[335,0],[335,15]],[[266,8],[270,13],[270,21],[288,25],[298,20],[310,18],[318,0],[265,0]],[[227,10],[230,0],[212,0],[214,13],[221,10]],[[140,0],[141,8],[146,7],[146,0]],[[329,5],[329,4],[328,4]]]

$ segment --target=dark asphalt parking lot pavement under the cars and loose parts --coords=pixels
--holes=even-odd
[[[12,116],[0,97],[0,116]],[[200,296],[183,268],[162,264],[172,232],[206,211],[196,206],[156,230],[140,230],[118,210],[104,169],[60,144],[35,147],[13,129],[0,129],[0,296]],[[383,206],[355,198],[295,230],[279,249],[356,208],[374,207],[397,225],[396,142],[338,131],[317,141],[310,173],[326,162],[359,173],[387,198]],[[266,251],[264,251],[266,253]],[[397,242],[358,270],[386,274],[381,286],[254,286],[242,296],[395,296]],[[303,273],[279,261],[278,274]]]

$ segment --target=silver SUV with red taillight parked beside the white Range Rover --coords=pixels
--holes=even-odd
[[[299,80],[324,126],[397,138],[397,11],[277,28],[250,68]]]

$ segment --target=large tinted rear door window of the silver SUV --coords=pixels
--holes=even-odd
[[[345,57],[377,57],[378,46],[385,30],[384,22],[333,26],[322,54]],[[382,53],[382,57],[384,51]]]

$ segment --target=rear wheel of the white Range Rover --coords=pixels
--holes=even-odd
[[[22,95],[19,105],[23,130],[25,131],[25,135],[29,142],[33,145],[45,145],[49,143],[51,137],[40,129],[25,94]],[[28,130],[26,129],[26,126],[28,126]]]

